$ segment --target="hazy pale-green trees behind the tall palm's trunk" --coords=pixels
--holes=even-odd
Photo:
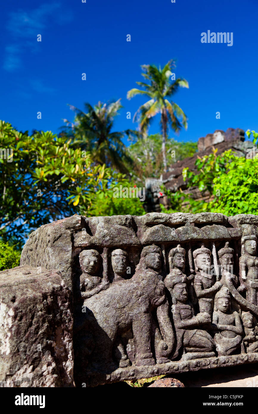
[[[196,142],[177,142],[170,138],[166,142],[166,162],[171,167],[176,161],[193,156],[197,151]],[[134,160],[132,174],[145,181],[148,177],[158,178],[163,173],[162,136],[160,134],[143,137],[132,143],[128,153]]]

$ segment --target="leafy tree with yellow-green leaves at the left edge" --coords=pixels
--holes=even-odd
[[[24,231],[77,212],[88,214],[91,207],[96,212],[101,193],[128,183],[125,175],[94,164],[76,141],[51,131],[29,136],[0,121],[0,148],[13,150],[12,162],[0,159],[0,236],[5,238],[24,238]]]

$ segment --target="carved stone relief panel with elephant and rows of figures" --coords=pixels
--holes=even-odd
[[[64,277],[78,386],[258,361],[257,216],[71,219]],[[42,226],[37,243],[62,225]],[[47,252],[58,268],[51,243]],[[29,240],[21,264],[30,262]]]

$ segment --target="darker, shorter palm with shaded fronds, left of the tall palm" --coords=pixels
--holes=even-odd
[[[126,135],[137,135],[137,132],[112,131],[114,118],[122,108],[121,99],[109,103],[98,102],[95,106],[84,103],[84,108],[85,111],[81,111],[70,105],[70,109],[75,112],[75,119],[72,123],[64,120],[70,136],[75,138],[76,144],[86,144],[86,150],[91,152],[97,164],[106,164],[121,173],[128,173],[127,165],[132,164],[132,159],[122,140]]]

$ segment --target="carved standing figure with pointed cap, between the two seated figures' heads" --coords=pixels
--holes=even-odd
[[[211,251],[204,245],[193,252],[195,264],[194,289],[198,298],[200,312],[207,312],[212,316],[215,293],[221,288],[221,282],[215,282],[215,276],[210,272]]]

